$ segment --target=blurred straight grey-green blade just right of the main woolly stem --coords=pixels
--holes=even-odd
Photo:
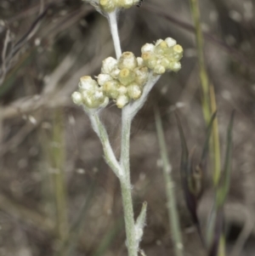
[[[176,203],[176,197],[174,192],[175,185],[171,176],[172,166],[167,156],[167,145],[165,143],[166,140],[165,140],[165,136],[162,128],[160,112],[157,106],[155,106],[154,112],[155,112],[155,119],[156,119],[156,133],[157,133],[158,142],[160,145],[161,160],[163,163],[163,174],[164,174],[164,179],[166,183],[167,210],[168,210],[168,217],[170,220],[170,230],[173,236],[174,251],[176,256],[183,256],[184,244],[182,241],[182,235],[181,235],[179,219],[178,219],[177,203]]]

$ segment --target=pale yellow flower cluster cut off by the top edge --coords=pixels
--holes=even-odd
[[[111,13],[117,8],[128,9],[139,4],[139,0],[99,0],[99,6],[107,13]]]

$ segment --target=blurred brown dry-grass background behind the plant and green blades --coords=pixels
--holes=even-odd
[[[236,110],[233,168],[225,205],[227,255],[255,255],[255,6],[252,0],[203,0],[201,26],[218,104],[220,146]],[[144,0],[119,14],[122,50],[175,38],[182,70],[161,77],[133,121],[131,172],[135,214],[148,202],[141,247],[173,255],[153,105],[158,105],[173,167],[185,255],[207,255],[180,186],[181,155],[173,111],[190,149],[205,139],[199,66],[188,0]],[[107,20],[81,0],[0,1],[0,255],[127,255],[120,187],[105,164],[88,117],[71,102],[79,78],[115,57]],[[121,111],[102,113],[116,155]],[[224,156],[224,154],[223,154]],[[224,159],[224,157],[222,157]],[[223,163],[222,163],[223,164]],[[210,182],[201,222],[213,201]],[[241,253],[239,253],[241,252]]]

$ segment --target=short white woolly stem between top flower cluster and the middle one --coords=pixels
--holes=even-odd
[[[112,37],[114,48],[115,48],[116,59],[118,60],[122,55],[122,48],[121,48],[118,26],[116,21],[116,10],[108,14],[108,21],[111,29],[111,37]]]

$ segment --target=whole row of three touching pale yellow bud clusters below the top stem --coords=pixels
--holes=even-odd
[[[182,56],[183,48],[168,37],[164,41],[157,40],[155,45],[146,43],[142,57],[136,58],[131,52],[123,53],[119,60],[108,57],[103,60],[97,81],[91,77],[81,78],[79,90],[72,94],[72,100],[77,105],[96,109],[104,107],[111,99],[122,108],[143,94],[150,70],[154,75],[178,71]]]

